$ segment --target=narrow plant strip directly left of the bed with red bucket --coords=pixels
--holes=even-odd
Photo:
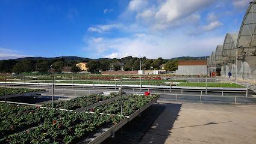
[[[91,104],[98,103],[102,100],[107,100],[108,98],[117,97],[120,95],[120,92],[111,92],[110,95],[101,95],[101,94],[89,94],[84,95],[83,97],[76,97],[67,101],[58,101],[54,102],[53,107],[58,109],[68,109],[75,110],[81,107],[87,107]],[[52,107],[51,103],[43,104],[44,107]]]

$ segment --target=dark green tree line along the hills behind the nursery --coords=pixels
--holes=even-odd
[[[0,61],[0,72],[1,73],[31,73],[33,71],[39,71],[39,73],[61,73],[64,67],[71,67],[72,73],[81,71],[80,68],[76,67],[76,64],[80,62],[87,62],[89,72],[98,72],[99,70],[119,70],[120,63],[124,63],[123,70],[160,70],[160,65],[164,65],[164,70],[175,71],[178,68],[178,61],[181,59],[148,59],[145,56],[143,58],[135,58],[132,56],[126,56],[121,59],[84,59],[84,60],[72,60],[65,61],[64,58],[52,59],[52,60],[33,60],[26,59],[23,61],[15,61],[14,59]],[[192,58],[184,58],[184,60],[193,60]],[[111,64],[111,65],[110,65]]]

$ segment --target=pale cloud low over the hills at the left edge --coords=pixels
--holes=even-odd
[[[19,53],[17,50],[5,49],[0,47],[0,60],[4,59],[16,59],[16,58],[24,58],[24,57],[33,57],[32,55],[19,55],[15,53]]]

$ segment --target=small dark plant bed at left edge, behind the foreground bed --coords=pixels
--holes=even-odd
[[[6,88],[6,95],[23,94],[36,91],[45,91],[45,89]],[[4,95],[4,87],[0,87],[0,96],[1,95]]]

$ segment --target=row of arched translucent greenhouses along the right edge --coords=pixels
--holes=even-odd
[[[239,33],[226,34],[223,46],[217,46],[207,59],[208,74],[221,71],[219,74],[227,76],[230,71],[233,77],[256,79],[255,29],[256,1],[253,1],[245,13]]]

